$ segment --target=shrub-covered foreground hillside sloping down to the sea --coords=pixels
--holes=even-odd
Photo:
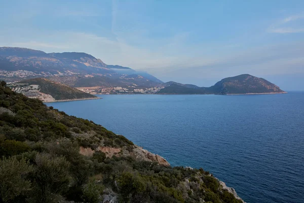
[[[202,168],[171,167],[93,121],[0,82],[1,202],[244,203]]]

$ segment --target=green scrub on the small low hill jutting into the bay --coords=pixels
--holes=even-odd
[[[21,81],[20,83],[27,83],[29,85],[39,85],[40,92],[50,94],[56,100],[62,99],[80,99],[80,98],[97,98],[97,96],[80,91],[78,89],[69,87],[67,85],[59,84],[45,78],[34,78]]]

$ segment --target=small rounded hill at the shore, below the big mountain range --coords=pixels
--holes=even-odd
[[[29,80],[23,80],[17,84],[12,84],[12,85],[16,86],[18,84],[22,84],[23,87],[22,91],[24,93],[25,92],[32,93],[32,91],[34,90],[32,90],[29,87],[32,87],[33,85],[38,85],[38,87],[36,87],[35,89],[38,94],[42,93],[42,95],[39,98],[41,98],[43,101],[53,101],[53,100],[44,100],[43,97],[46,97],[46,95],[50,95],[51,97],[54,98],[54,100],[98,98],[95,95],[80,91],[75,88],[71,88],[67,85],[50,81],[46,78],[34,78]]]

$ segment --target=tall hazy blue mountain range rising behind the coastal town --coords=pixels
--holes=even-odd
[[[46,53],[19,47],[0,47],[0,79],[8,82],[38,77],[74,75],[105,76],[118,80],[124,75],[140,75],[151,84],[163,83],[147,73],[130,67],[107,65],[102,60],[82,52]],[[149,85],[149,83],[135,85]],[[95,85],[96,86],[96,85]]]

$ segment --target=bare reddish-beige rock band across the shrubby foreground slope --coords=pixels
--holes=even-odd
[[[170,163],[161,157],[158,154],[153,154],[142,147],[136,146],[135,148],[129,152],[126,149],[123,148],[113,148],[113,147],[105,147],[105,146],[99,146],[96,150],[92,150],[91,148],[84,148],[80,147],[80,153],[85,156],[93,156],[95,151],[101,151],[105,153],[106,157],[111,158],[113,155],[115,156],[131,156],[136,160],[139,161],[155,161],[158,162],[161,165],[169,166]]]

